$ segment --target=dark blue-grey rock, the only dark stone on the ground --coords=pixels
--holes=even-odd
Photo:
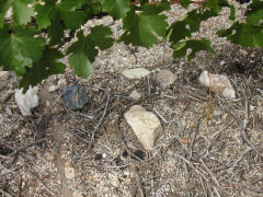
[[[62,94],[65,105],[71,109],[80,109],[89,102],[84,88],[80,85],[67,86]]]

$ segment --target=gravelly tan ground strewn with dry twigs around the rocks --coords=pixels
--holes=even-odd
[[[169,22],[183,13],[174,5],[167,13]],[[187,62],[172,59],[168,43],[136,50],[116,44],[100,53],[88,80],[68,70],[44,81],[41,104],[31,117],[23,117],[15,104],[13,73],[1,77],[0,196],[262,196],[263,51],[217,38],[215,32],[230,25],[229,10],[224,13],[201,28],[216,56],[199,53]],[[111,18],[83,28],[95,24],[111,25],[116,37],[122,34],[122,23]],[[137,67],[150,70],[149,78],[122,77],[124,69]],[[169,88],[156,82],[162,69],[176,74]],[[209,95],[198,82],[204,69],[226,74],[237,99]],[[60,99],[71,84],[83,85],[90,100],[79,112],[68,111]],[[58,89],[50,92],[52,85]],[[142,149],[122,117],[135,104],[128,99],[134,90],[142,95],[136,104],[162,123],[151,151]],[[37,125],[46,115],[46,141],[35,144]],[[21,151],[12,154],[11,149]]]

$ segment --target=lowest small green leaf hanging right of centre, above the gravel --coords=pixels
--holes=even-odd
[[[210,42],[208,39],[190,39],[186,42],[179,42],[172,46],[173,48],[173,57],[182,58],[186,56],[187,49],[191,49],[191,53],[187,57],[188,61],[192,60],[196,53],[201,50],[207,50],[211,54],[215,54],[215,50],[210,47]]]

